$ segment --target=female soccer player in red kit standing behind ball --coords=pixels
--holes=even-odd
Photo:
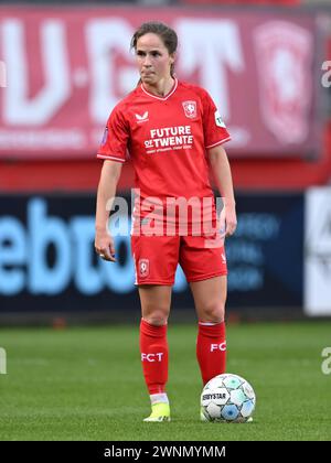
[[[178,263],[199,319],[196,357],[203,384],[225,372],[227,270],[209,165],[223,197],[225,235],[236,228],[231,169],[222,147],[231,137],[210,95],[177,79],[177,45],[175,32],[163,23],[147,22],[136,31],[131,47],[140,80],[110,114],[97,154],[105,162],[95,249],[110,262],[116,258],[107,230],[109,200],[127,153],[136,173],[131,250],[142,315],[141,364],[152,408],[145,421],[152,422],[170,421],[167,322]]]

